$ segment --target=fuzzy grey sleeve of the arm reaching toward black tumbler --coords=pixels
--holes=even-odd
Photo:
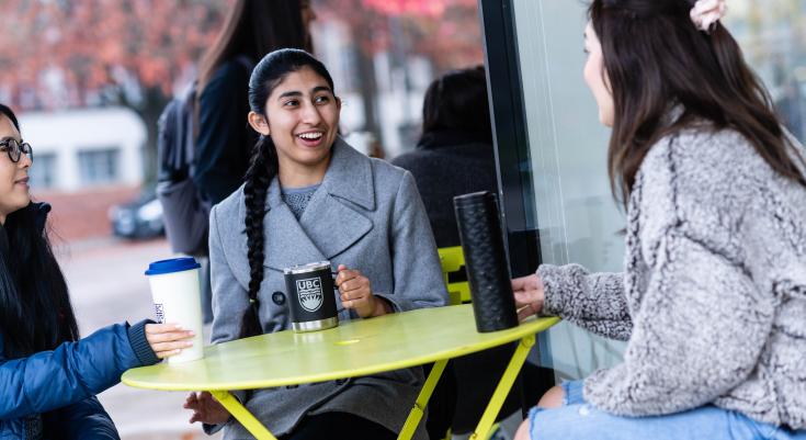
[[[633,321],[624,297],[623,273],[588,273],[579,264],[543,264],[537,275],[543,281],[546,314],[605,338],[629,339]]]

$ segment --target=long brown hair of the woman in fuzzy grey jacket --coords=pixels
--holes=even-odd
[[[690,19],[693,5],[694,0],[590,4],[615,109],[608,151],[613,194],[626,205],[652,144],[697,120],[739,132],[776,172],[806,187],[794,161],[803,157],[739,45],[719,22],[699,31]],[[683,113],[667,126],[670,104],[681,104]]]

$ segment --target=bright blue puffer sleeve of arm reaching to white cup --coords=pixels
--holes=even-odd
[[[116,324],[53,351],[0,361],[0,420],[81,402],[117,384],[126,370],[157,359],[152,351],[152,358],[135,351],[132,338],[137,336],[129,330],[144,331],[144,326]]]

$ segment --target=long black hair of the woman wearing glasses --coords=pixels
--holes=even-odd
[[[20,129],[11,109],[0,104],[0,113]],[[48,211],[47,204],[31,203],[0,226],[0,334],[8,358],[53,350],[79,336],[67,283],[44,228]]]

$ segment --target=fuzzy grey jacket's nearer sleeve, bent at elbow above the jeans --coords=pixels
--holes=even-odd
[[[711,403],[753,371],[774,316],[741,267],[672,222],[644,237],[651,275],[633,314],[624,363],[586,381],[584,396],[616,415],[677,413]],[[769,294],[767,294],[769,295]]]

